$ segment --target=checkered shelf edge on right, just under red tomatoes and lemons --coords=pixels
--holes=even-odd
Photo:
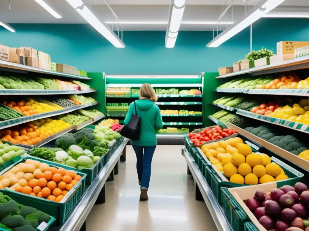
[[[217,107],[224,108],[224,107],[222,107],[222,106],[224,106],[222,104],[214,103],[213,105],[215,105]],[[234,107],[232,107],[232,108],[234,108]],[[224,108],[224,109],[226,109],[226,108]],[[243,115],[243,116],[246,116],[248,118],[264,121],[264,122],[269,123],[269,124],[279,125],[279,126],[282,126],[282,127],[285,127],[285,128],[290,128],[290,129],[293,129],[293,130],[296,130],[296,131],[299,131],[299,132],[309,133],[309,125],[306,125],[306,124],[300,124],[300,123],[292,122],[292,121],[289,121],[289,120],[283,120],[283,119],[278,119],[278,118],[274,118],[274,117],[270,117],[270,116],[266,116],[266,115],[260,115],[260,114],[253,113],[251,111],[245,111],[245,110],[241,110],[241,109],[237,109],[237,108],[234,108],[234,111],[236,111],[236,114]]]

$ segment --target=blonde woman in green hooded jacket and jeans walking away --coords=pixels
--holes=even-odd
[[[136,154],[136,169],[138,184],[141,185],[140,201],[148,200],[148,187],[151,174],[152,156],[157,146],[155,129],[163,126],[162,117],[158,105],[155,104],[157,96],[154,89],[148,83],[144,83],[139,91],[139,99],[130,104],[125,124],[131,120],[132,114],[141,117],[141,132],[138,140],[130,140]],[[144,153],[143,153],[144,152]]]

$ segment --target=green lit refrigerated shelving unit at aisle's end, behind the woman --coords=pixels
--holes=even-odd
[[[155,90],[176,88],[180,90],[190,89],[203,89],[203,77],[194,75],[168,75],[168,76],[112,76],[106,75],[106,88],[111,87],[125,87],[129,88],[130,92],[125,95],[110,95],[112,92],[106,95],[106,103],[129,103],[136,100],[139,95],[133,93],[133,89],[139,89],[143,83],[149,83]],[[158,101],[155,102],[160,110],[187,110],[189,111],[201,111],[202,114],[162,114],[163,128],[167,126],[176,126],[188,128],[192,131],[195,128],[201,128],[203,125],[203,95],[184,95],[184,94],[157,94]],[[107,111],[106,117],[120,120],[119,123],[123,123],[123,119],[126,116],[126,111]],[[175,136],[178,135],[178,136]],[[163,140],[163,143],[167,144],[181,144],[183,134],[170,134],[170,133],[158,133],[158,140]],[[169,139],[170,143],[167,142]]]

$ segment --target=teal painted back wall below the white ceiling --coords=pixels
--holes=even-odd
[[[253,49],[276,51],[282,40],[308,40],[309,19],[261,19],[253,24]],[[107,74],[200,74],[217,72],[250,51],[250,30],[218,48],[206,48],[212,31],[180,31],[176,46],[165,48],[165,31],[124,31],[124,49],[115,48],[85,24],[12,24],[16,33],[0,27],[0,44],[30,46],[88,72]]]

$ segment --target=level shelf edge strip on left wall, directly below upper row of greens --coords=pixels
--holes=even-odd
[[[68,95],[68,94],[86,94],[95,92],[89,91],[67,91],[67,90],[19,90],[19,89],[0,89],[0,95]]]

